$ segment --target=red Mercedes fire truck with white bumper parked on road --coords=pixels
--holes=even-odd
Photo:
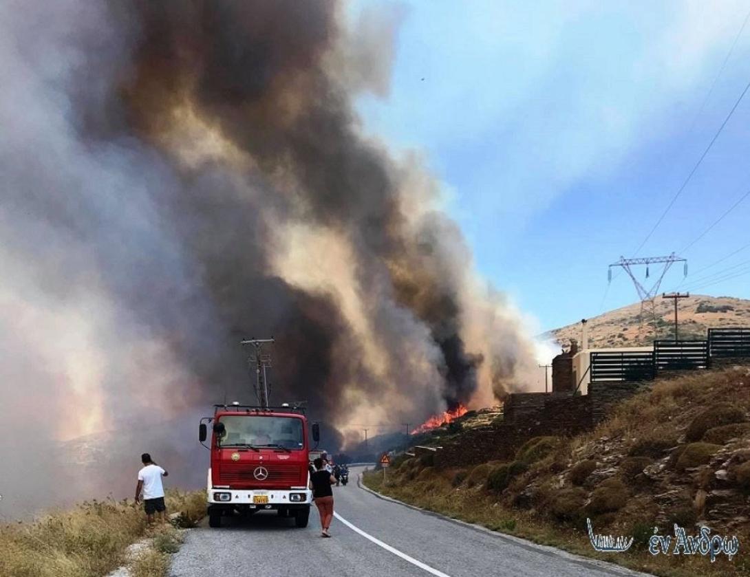
[[[211,444],[208,424],[212,426]],[[317,443],[320,429],[312,426]],[[214,405],[203,417],[199,440],[211,450],[208,469],[208,525],[222,516],[276,510],[307,527],[312,492],[308,489],[308,421],[302,408]]]

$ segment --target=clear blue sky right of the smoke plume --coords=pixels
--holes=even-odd
[[[748,11],[359,0],[353,18],[391,13],[400,26],[389,90],[357,106],[366,132],[422,154],[478,271],[542,328],[636,301],[625,275],[606,291],[621,255],[675,251],[688,280],[676,267],[665,290],[750,298],[750,247],[700,271],[750,244],[750,197],[680,252],[750,190],[750,92],[634,254],[750,81],[748,23],[709,94]]]

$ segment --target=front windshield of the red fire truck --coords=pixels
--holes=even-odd
[[[220,447],[281,447],[302,449],[302,420],[295,417],[260,415],[224,415],[220,418],[224,433]]]

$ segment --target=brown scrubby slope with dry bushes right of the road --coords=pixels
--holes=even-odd
[[[750,369],[693,373],[655,381],[592,432],[532,438],[505,462],[458,467],[434,454],[401,456],[386,484],[377,473],[366,483],[428,510],[658,575],[747,575],[748,417]],[[453,442],[462,442],[460,433]],[[596,553],[587,518],[598,534],[634,537],[634,545]],[[675,523],[688,535],[703,525],[734,535],[742,549],[715,563],[652,556],[654,528],[673,535]]]

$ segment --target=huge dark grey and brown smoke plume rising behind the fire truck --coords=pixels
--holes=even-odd
[[[184,423],[254,400],[248,336],[277,341],[273,400],[342,432],[523,384],[532,348],[437,184],[353,110],[387,92],[393,46],[374,39],[398,10],[350,30],[329,0],[115,4],[0,7],[12,430],[40,446],[139,430],[178,459]]]

